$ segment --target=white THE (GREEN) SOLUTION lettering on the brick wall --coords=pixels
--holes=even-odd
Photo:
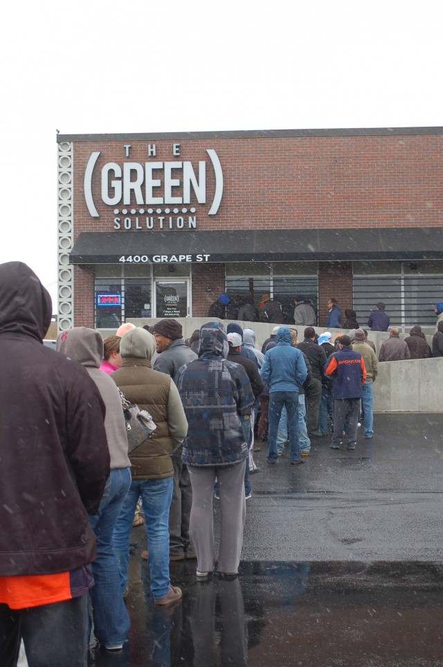
[[[126,158],[131,148],[123,145]],[[84,172],[84,199],[91,217],[100,217],[96,208],[100,200],[114,208],[114,229],[195,229],[197,206],[207,203],[207,163],[200,160],[194,167],[190,161],[177,160],[180,150],[179,144],[172,144],[174,161],[107,162],[100,170],[100,195],[93,193],[92,181],[101,151],[92,152]],[[217,152],[207,148],[206,153],[215,179],[208,215],[215,215],[223,196],[223,171]],[[147,156],[155,155],[156,145],[149,144]]]

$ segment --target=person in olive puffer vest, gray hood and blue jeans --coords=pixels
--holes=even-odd
[[[148,564],[151,592],[156,605],[170,605],[181,598],[181,589],[171,586],[169,576],[169,508],[174,468],[172,454],[188,433],[188,422],[172,378],[151,368],[155,339],[143,328],[127,332],[120,344],[122,367],[111,373],[130,403],[151,413],[156,430],[151,438],[129,454],[132,484],[114,529],[122,593],[127,589],[129,540],[139,498],[143,503],[149,543]]]

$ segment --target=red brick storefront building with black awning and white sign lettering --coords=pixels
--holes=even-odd
[[[60,328],[302,292],[403,328],[443,301],[443,128],[57,135]]]

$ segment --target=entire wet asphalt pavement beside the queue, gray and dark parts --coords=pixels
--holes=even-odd
[[[154,607],[134,529],[129,641],[91,666],[443,667],[443,415],[374,426],[354,452],[312,441],[302,466],[257,453],[239,578],[171,564],[174,609]]]

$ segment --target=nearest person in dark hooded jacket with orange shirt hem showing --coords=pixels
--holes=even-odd
[[[52,312],[26,264],[0,265],[2,665],[17,664],[21,638],[32,664],[87,664],[105,404],[81,364],[43,345]]]

